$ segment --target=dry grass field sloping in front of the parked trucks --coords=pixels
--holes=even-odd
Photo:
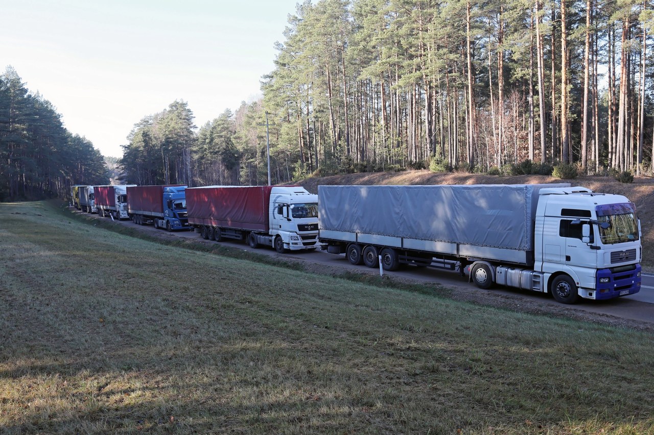
[[[0,204],[0,432],[654,433],[653,336]]]

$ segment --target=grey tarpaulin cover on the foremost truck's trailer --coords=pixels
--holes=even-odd
[[[569,184],[319,185],[320,230],[532,250],[538,191]]]

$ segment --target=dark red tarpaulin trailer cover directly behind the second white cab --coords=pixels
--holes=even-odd
[[[196,225],[269,230],[272,186],[207,186],[186,189],[188,222]]]

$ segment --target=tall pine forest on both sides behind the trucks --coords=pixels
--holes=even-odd
[[[184,101],[135,120],[122,182],[267,184],[268,154],[273,184],[404,169],[651,176],[653,33],[651,0],[305,1],[261,99],[199,127]],[[10,68],[0,141],[5,197],[107,176]]]

